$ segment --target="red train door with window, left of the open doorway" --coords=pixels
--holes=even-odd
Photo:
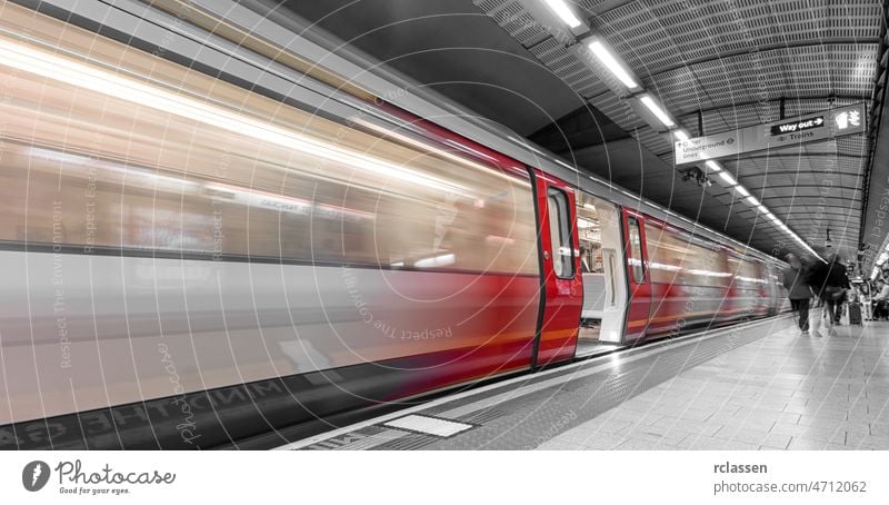
[[[541,299],[535,366],[575,355],[583,300],[575,221],[575,191],[535,170],[540,222]]]

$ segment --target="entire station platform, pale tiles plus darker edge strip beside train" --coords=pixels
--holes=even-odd
[[[441,398],[283,449],[887,449],[889,323],[787,316]]]

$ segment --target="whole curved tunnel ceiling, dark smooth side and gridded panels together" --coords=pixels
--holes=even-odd
[[[736,194],[682,181],[671,139],[636,116],[517,0],[332,0],[283,6],[578,167],[769,254],[797,250]],[[581,0],[575,6],[691,133],[865,102],[878,0]],[[822,251],[857,249],[866,135],[723,160]],[[685,168],[685,167],[682,167]],[[787,247],[779,247],[779,245]]]

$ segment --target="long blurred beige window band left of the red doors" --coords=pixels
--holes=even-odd
[[[538,274],[527,179],[128,55],[108,79],[176,106],[0,62],[0,240]]]

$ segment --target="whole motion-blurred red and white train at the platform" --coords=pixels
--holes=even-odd
[[[2,448],[227,446],[782,309],[773,258],[294,56],[0,9]]]

